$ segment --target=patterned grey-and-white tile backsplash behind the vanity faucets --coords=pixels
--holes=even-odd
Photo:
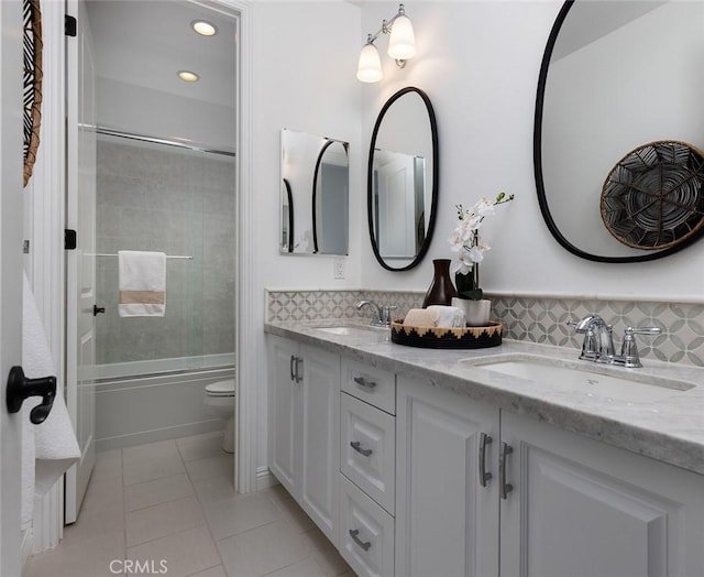
[[[279,322],[370,318],[355,304],[369,298],[380,305],[396,305],[394,317],[419,307],[425,292],[385,291],[267,291],[267,319]],[[504,325],[504,338],[582,348],[582,336],[570,320],[597,314],[614,326],[616,350],[627,326],[657,326],[662,334],[638,335],[644,359],[704,367],[704,305],[645,301],[581,301],[576,298],[492,296],[492,317]]]

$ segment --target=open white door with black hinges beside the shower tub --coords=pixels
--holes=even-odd
[[[77,232],[66,253],[66,404],[76,429],[80,460],[66,473],[66,523],[78,516],[96,460],[96,98],[90,30],[82,1],[70,0],[77,36],[66,37],[66,226]]]

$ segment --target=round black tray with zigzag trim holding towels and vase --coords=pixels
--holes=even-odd
[[[392,323],[392,342],[426,349],[484,349],[502,344],[503,325],[490,323],[485,327],[417,327],[404,325],[399,318]]]

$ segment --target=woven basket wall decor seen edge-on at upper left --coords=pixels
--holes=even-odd
[[[1,0],[0,0],[1,1]],[[42,12],[40,0],[22,2],[24,36],[24,186],[30,182],[36,151],[40,148],[40,123],[42,120]]]

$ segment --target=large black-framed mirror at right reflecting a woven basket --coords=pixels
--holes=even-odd
[[[656,141],[704,148],[704,109],[691,81],[703,18],[701,2],[566,0],[562,6],[540,68],[534,167],[546,225],[571,253],[597,262],[650,261],[704,236],[698,227],[679,232],[676,242],[662,242],[666,248],[634,246],[639,243],[613,235],[603,217],[614,170],[630,151]],[[666,170],[670,164],[672,186],[647,190],[654,218],[632,213],[609,219],[632,218],[634,226],[646,221],[653,231],[662,229],[681,203],[682,183],[672,177],[674,163]],[[704,173],[692,172],[700,183],[688,208],[704,218]],[[630,189],[636,190],[624,187],[622,194]],[[629,205],[627,197],[623,205]]]

